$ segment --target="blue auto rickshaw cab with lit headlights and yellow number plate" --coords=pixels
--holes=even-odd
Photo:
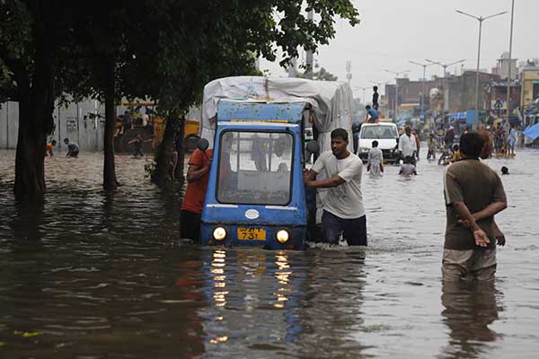
[[[307,102],[219,101],[203,245],[304,249],[310,108]]]

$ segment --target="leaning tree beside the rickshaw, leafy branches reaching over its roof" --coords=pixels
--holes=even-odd
[[[208,4],[212,12],[208,12]],[[159,53],[160,73],[170,74],[158,95],[160,106],[167,109],[167,127],[175,127],[180,115],[201,98],[204,84],[217,77],[249,74],[253,71],[254,58],[275,60],[277,48],[284,52],[281,66],[287,66],[297,57],[298,48],[315,51],[318,45],[328,43],[335,31],[334,18],[340,15],[352,25],[358,23],[358,13],[348,0],[274,1],[220,1],[202,2],[189,6],[189,11],[168,9],[175,21],[164,34],[170,36],[163,42]],[[306,12],[313,10],[320,20],[312,22]],[[184,34],[189,33],[187,37]],[[185,48],[190,48],[186,53]],[[166,61],[163,61],[166,59]],[[197,69],[192,74],[191,69]],[[327,75],[326,77],[327,78]],[[177,84],[183,85],[178,93]],[[187,84],[187,86],[185,86]],[[166,168],[172,153],[172,132],[165,129],[163,144],[157,157],[153,180],[168,180]]]

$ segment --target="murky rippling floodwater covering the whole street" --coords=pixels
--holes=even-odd
[[[59,154],[59,153],[57,153]],[[425,153],[423,153],[425,155]],[[369,247],[199,248],[179,238],[180,191],[117,157],[46,158],[47,203],[13,205],[0,152],[2,358],[535,358],[539,353],[539,151],[489,160],[509,207],[496,283],[442,288],[444,168],[364,177]]]

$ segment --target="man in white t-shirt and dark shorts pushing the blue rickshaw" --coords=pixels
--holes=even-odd
[[[323,241],[339,242],[340,234],[349,246],[367,246],[367,219],[361,193],[363,162],[347,149],[348,132],[343,128],[331,131],[331,151],[320,154],[313,168],[305,173],[305,186],[330,188],[323,205]],[[325,171],[326,180],[315,180]]]

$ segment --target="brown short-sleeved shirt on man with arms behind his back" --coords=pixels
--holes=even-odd
[[[474,250],[473,232],[458,223],[455,202],[464,202],[472,214],[481,211],[494,202],[506,202],[506,194],[495,171],[476,159],[463,159],[451,164],[444,180],[446,197],[446,242],[447,250]],[[496,247],[492,223],[494,217],[484,218],[477,224],[490,239],[488,248]]]

